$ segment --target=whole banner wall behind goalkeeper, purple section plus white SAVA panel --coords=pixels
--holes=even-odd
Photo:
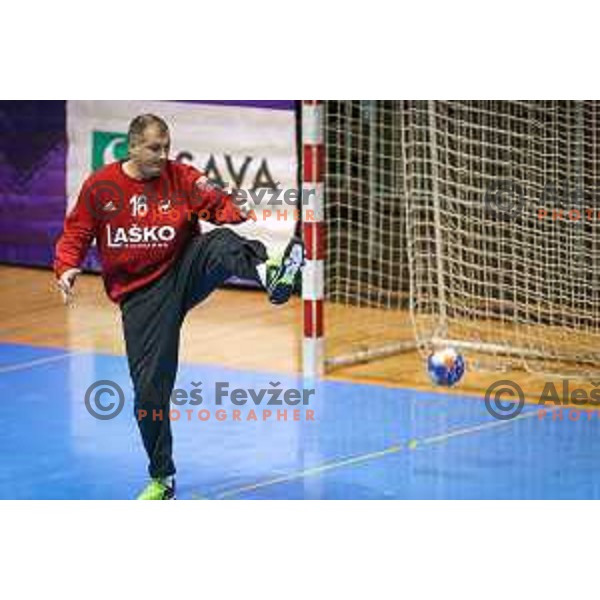
[[[52,264],[67,204],[89,173],[126,156],[127,125],[142,111],[169,122],[174,157],[258,199],[257,223],[237,231],[283,247],[297,216],[289,203],[262,210],[260,202],[273,185],[279,199],[295,186],[293,109],[286,100],[1,101],[0,261]],[[85,266],[97,268],[91,254]]]

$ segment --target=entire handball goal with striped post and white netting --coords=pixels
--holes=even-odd
[[[451,344],[600,374],[599,109],[304,102],[305,372]]]

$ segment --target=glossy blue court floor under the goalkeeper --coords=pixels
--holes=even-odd
[[[86,408],[99,380],[123,390],[112,419]],[[217,405],[217,384],[267,391],[259,405],[249,392],[243,406],[231,394]],[[269,390],[293,399],[313,385],[202,364],[183,364],[176,385],[180,499],[600,497],[600,413],[559,420],[527,406],[496,421],[477,398],[339,381],[308,405],[267,405],[281,399]],[[102,416],[111,398],[100,397]],[[0,344],[0,427],[0,498],[125,499],[145,483],[124,357]]]

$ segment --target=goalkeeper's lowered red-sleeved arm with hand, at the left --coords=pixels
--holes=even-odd
[[[63,232],[56,243],[54,273],[65,304],[71,303],[73,285],[81,273],[79,267],[96,235],[90,202],[89,189],[84,184],[75,206],[65,217]]]

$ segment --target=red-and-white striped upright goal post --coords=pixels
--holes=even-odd
[[[323,214],[323,102],[302,102],[302,235],[306,266],[302,273],[304,305],[303,372],[318,377],[324,371],[323,298],[325,231]]]

